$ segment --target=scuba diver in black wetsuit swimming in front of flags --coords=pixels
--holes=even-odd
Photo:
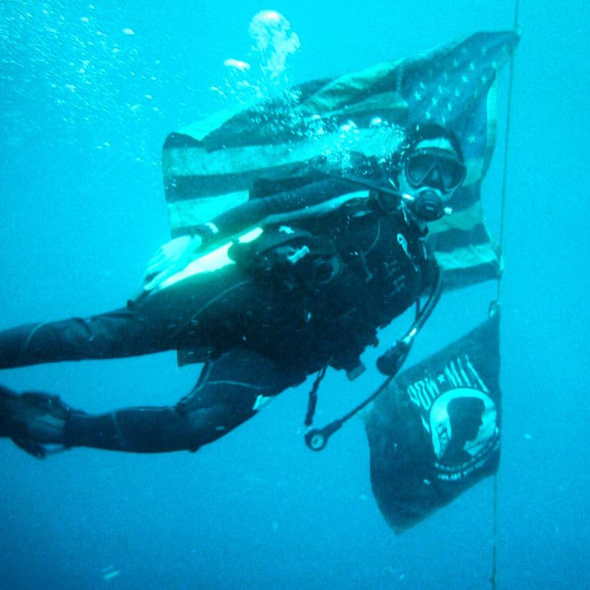
[[[311,374],[331,366],[353,379],[378,329],[427,291],[438,299],[426,224],[449,212],[466,173],[456,136],[431,124],[409,127],[386,164],[354,169],[314,166],[280,191],[259,181],[249,201],[162,246],[123,309],[0,332],[2,369],[174,349],[204,363],[175,406],[87,414],[0,387],[0,436],[40,458],[48,445],[196,451]],[[396,373],[404,346],[381,356],[381,372]]]

